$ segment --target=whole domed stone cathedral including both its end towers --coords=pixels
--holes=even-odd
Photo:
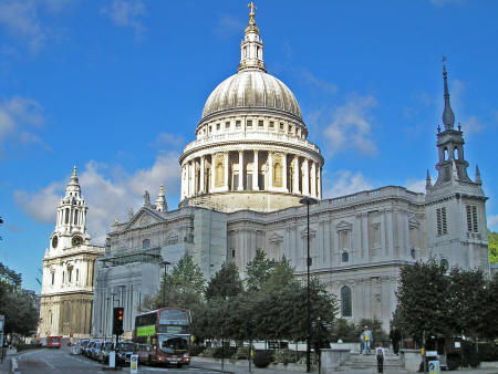
[[[448,267],[479,267],[489,272],[487,198],[477,166],[474,179],[467,173],[463,131],[459,125],[455,128],[446,69],[443,123],[435,128],[438,175],[433,183],[427,172],[426,193],[385,186],[322,199],[324,158],[308,141],[308,127],[292,91],[267,73],[253,8],[249,15],[237,72],[208,96],[195,139],[179,157],[178,209],[168,209],[160,186],[153,202],[145,191],[143,206],[129,212],[127,221],[115,220],[107,233],[105,251],[95,266],[94,336],[111,335],[113,307],[124,308],[125,336],[131,336],[143,299],[157,292],[164,272],[185,253],[206,279],[226,261],[236,263],[243,278],[258,249],[271,259],[286,257],[295,276],[304,277],[309,242],[310,271],[338,297],[338,316],[378,319],[384,329],[396,307],[401,267],[437,258]],[[303,198],[317,201],[309,206],[309,216]],[[64,271],[71,277],[70,267],[76,269],[79,263],[73,251],[76,256],[84,248],[89,266],[101,253],[87,245],[84,201],[74,205],[73,199],[80,201],[79,190],[72,197],[69,189],[44,259],[42,308],[48,298],[55,298],[59,307],[51,311],[51,324],[43,309],[43,331],[54,323],[64,328],[64,315],[69,315],[64,311],[73,308],[76,297],[69,292],[68,278],[64,283]],[[71,209],[81,214],[71,216]],[[80,247],[71,242],[74,232],[81,236]],[[53,246],[53,238],[59,238],[59,248],[70,249],[59,249],[56,240]],[[77,279],[72,271],[69,283]],[[84,290],[89,298],[92,291],[87,283],[91,274],[80,272],[75,302],[83,300]],[[54,273],[59,277],[55,285]]]

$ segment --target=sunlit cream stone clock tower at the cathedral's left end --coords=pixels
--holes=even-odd
[[[86,210],[74,167],[43,258],[39,336],[90,336],[94,266],[104,248],[90,245]]]

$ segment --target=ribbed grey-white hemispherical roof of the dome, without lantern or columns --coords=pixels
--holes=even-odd
[[[284,112],[302,120],[292,91],[259,69],[241,70],[221,82],[206,101],[203,120],[220,112],[255,108]]]

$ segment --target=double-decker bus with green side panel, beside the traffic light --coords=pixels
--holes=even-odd
[[[188,365],[190,323],[190,311],[180,308],[168,307],[138,314],[133,331],[138,360],[148,364]]]

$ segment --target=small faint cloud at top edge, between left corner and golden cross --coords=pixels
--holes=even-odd
[[[135,37],[139,38],[145,32],[141,17],[145,14],[145,6],[142,0],[113,0],[108,7],[102,8],[117,27],[131,27],[135,30]]]

